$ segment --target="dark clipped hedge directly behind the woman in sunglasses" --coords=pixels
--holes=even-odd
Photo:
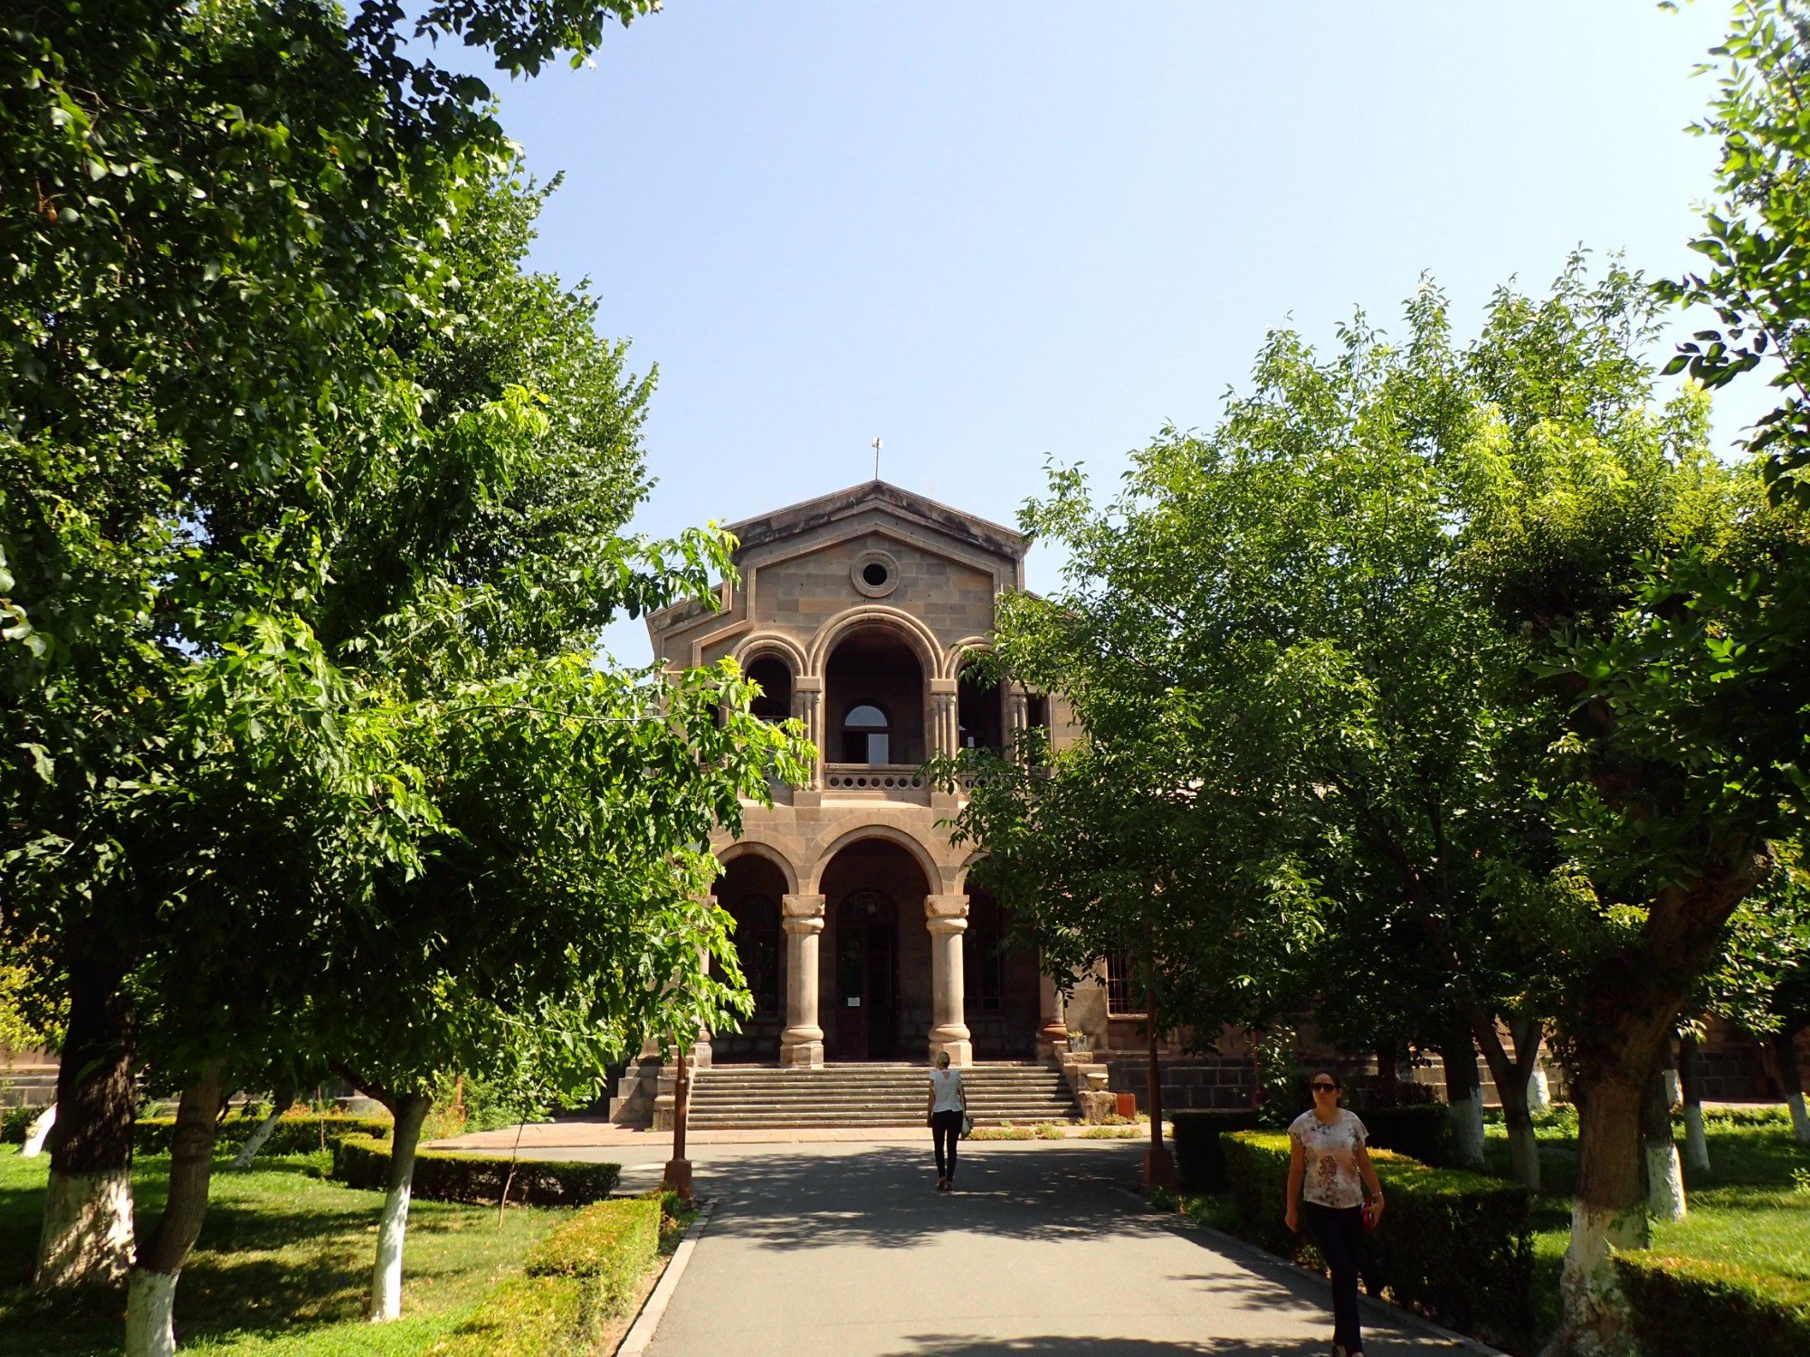
[[[1238,1234],[1274,1254],[1319,1265],[1305,1234],[1283,1223],[1289,1136],[1240,1131],[1224,1136],[1238,1207]],[[1363,1281],[1443,1324],[1497,1346],[1533,1330],[1531,1198],[1519,1183],[1430,1169],[1390,1151],[1372,1151],[1388,1194],[1383,1225],[1365,1241]]]

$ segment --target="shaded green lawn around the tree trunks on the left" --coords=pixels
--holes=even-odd
[[[154,1219],[168,1156],[134,1169],[139,1221]],[[176,1337],[197,1353],[387,1357],[424,1353],[469,1314],[529,1248],[567,1218],[559,1209],[422,1201],[409,1207],[404,1319],[364,1323],[382,1196],[326,1181],[326,1156],[273,1158],[250,1172],[215,1165],[212,1205],[176,1292]],[[125,1292],[42,1301],[27,1288],[49,1156],[0,1147],[0,1333],[5,1352],[116,1353]]]

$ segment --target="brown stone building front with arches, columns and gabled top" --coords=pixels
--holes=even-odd
[[[1048,1058],[1068,1037],[1055,986],[1001,946],[999,905],[968,885],[977,852],[943,823],[959,792],[919,774],[1050,726],[1044,698],[970,671],[996,599],[1024,584],[1028,539],[883,481],[729,532],[740,583],[715,612],[650,615],[655,655],[733,657],[764,691],[757,715],[800,720],[818,758],[713,845],[755,1013],[708,1037],[697,1064]],[[1086,988],[1104,1011],[1104,988]]]

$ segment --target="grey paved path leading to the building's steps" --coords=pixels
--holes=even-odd
[[[637,1156],[639,1158],[639,1156]],[[1325,1357],[1327,1283],[1138,1210],[1138,1147],[711,1147],[650,1357]],[[632,1165],[624,1178],[657,1174]],[[1481,1353],[1367,1305],[1368,1357]]]

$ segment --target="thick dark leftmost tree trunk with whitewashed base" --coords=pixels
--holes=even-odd
[[[132,1267],[132,1006],[125,972],[72,948],[69,1030],[56,1071],[38,1290],[116,1283]]]

